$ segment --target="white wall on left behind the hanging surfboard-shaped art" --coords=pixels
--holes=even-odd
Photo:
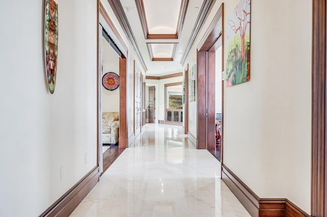
[[[0,7],[1,216],[38,216],[97,165],[97,2],[57,2],[54,94],[44,75],[43,4]]]

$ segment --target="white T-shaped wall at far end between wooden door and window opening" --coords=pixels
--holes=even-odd
[[[183,77],[172,77],[172,78],[166,78],[166,79],[160,79],[160,80],[151,80],[146,79],[146,85],[149,84],[158,84],[158,97],[156,97],[156,101],[158,100],[158,116],[156,116],[156,119],[158,117],[158,120],[165,120],[165,85],[176,83],[176,82],[182,82]],[[150,85],[151,86],[151,85]],[[156,89],[157,92],[157,89]]]

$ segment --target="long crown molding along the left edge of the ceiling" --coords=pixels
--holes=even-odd
[[[139,63],[141,63],[141,66],[143,70],[146,72],[148,71],[148,68],[144,62],[144,59],[142,57],[141,51],[139,50],[139,47],[137,45],[137,41],[135,39],[135,36],[133,34],[133,31],[131,29],[131,26],[128,22],[128,19],[126,17],[126,14],[124,12],[123,6],[120,1],[115,0],[108,0],[108,3],[113,10],[116,18],[118,19],[120,25],[122,26],[122,29],[127,37],[127,40],[129,41],[130,45],[132,46],[135,55],[137,59],[139,60]]]

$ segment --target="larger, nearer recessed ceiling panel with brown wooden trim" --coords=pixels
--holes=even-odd
[[[136,0],[145,39],[178,39],[189,0]]]

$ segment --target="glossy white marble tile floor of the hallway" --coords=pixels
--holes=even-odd
[[[180,126],[146,124],[71,216],[250,216]]]

